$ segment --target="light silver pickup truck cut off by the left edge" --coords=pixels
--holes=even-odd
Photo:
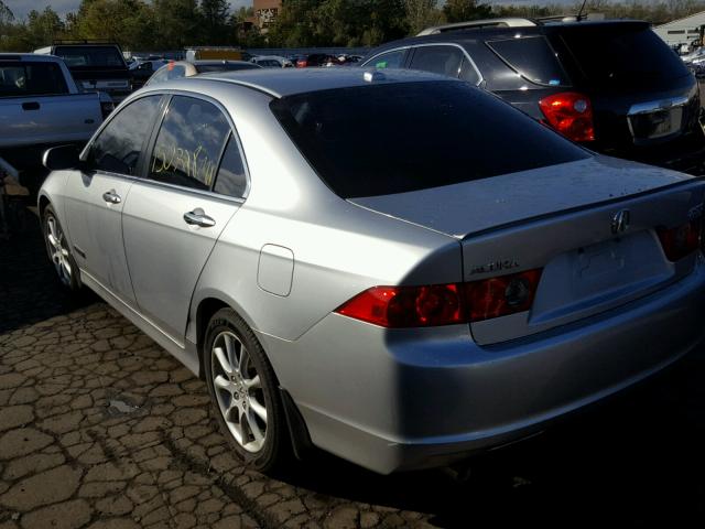
[[[0,53],[0,166],[41,171],[44,150],[85,144],[112,108],[107,94],[80,90],[58,57]]]

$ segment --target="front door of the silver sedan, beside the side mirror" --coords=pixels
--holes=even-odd
[[[134,302],[134,294],[122,245],[122,208],[160,101],[161,96],[142,97],[111,116],[67,183],[66,217],[78,267],[127,302]]]

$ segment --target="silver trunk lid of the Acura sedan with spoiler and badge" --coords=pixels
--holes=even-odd
[[[466,282],[541,270],[531,310],[470,324],[478,343],[492,344],[608,311],[690,273],[695,255],[671,262],[657,229],[698,217],[703,187],[596,156],[351,202],[458,238]]]

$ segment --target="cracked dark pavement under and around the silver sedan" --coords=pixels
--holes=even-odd
[[[204,384],[87,294],[36,230],[0,241],[0,529],[703,527],[705,355],[532,441],[378,476],[315,455],[245,468]]]

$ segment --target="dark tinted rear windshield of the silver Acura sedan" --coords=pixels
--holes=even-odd
[[[379,84],[270,107],[345,198],[387,195],[571,162],[583,149],[463,82]]]

